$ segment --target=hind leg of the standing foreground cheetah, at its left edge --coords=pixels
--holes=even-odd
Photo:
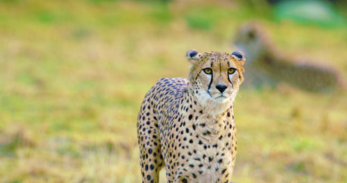
[[[163,164],[160,151],[158,121],[150,106],[142,106],[137,121],[139,164],[142,182],[159,182],[159,171]]]

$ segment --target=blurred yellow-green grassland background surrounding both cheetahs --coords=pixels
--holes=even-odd
[[[346,80],[346,1],[300,2],[1,0],[0,182],[141,182],[144,94],[249,21]],[[233,182],[347,182],[346,92],[242,87],[235,118]]]

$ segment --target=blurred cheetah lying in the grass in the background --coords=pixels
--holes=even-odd
[[[247,70],[244,76],[246,87],[276,87],[285,82],[307,92],[328,93],[344,89],[344,82],[337,71],[299,63],[276,51],[259,24],[252,22],[240,26],[233,44],[247,55],[244,65]]]

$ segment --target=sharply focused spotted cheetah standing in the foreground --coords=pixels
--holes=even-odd
[[[187,51],[187,78],[162,78],[137,119],[142,182],[228,182],[237,152],[233,101],[244,80],[244,53]]]

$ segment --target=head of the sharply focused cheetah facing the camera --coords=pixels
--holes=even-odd
[[[186,54],[190,62],[189,82],[201,105],[207,107],[230,105],[244,80],[244,53],[207,52],[190,49]],[[223,106],[223,105],[222,105]]]

